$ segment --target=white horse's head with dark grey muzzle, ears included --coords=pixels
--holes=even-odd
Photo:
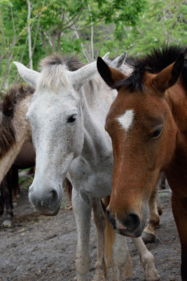
[[[83,148],[81,86],[97,72],[96,62],[83,66],[74,58],[53,56],[41,61],[41,72],[21,63],[15,65],[21,77],[36,89],[27,112],[36,149],[29,201],[40,214],[53,216],[60,209],[62,181]]]

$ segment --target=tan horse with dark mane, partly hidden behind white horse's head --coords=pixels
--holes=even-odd
[[[34,89],[13,86],[0,104],[0,183],[8,173],[22,145],[32,143],[32,130],[25,119]]]

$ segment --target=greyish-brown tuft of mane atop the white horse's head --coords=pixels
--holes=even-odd
[[[60,54],[50,55],[46,58],[43,58],[43,60],[41,60],[40,63],[41,69],[53,65],[66,65],[69,71],[76,71],[84,66],[81,60],[76,56],[60,55]]]

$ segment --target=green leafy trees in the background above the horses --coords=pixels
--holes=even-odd
[[[35,70],[52,53],[81,54],[90,62],[107,51],[138,55],[164,42],[186,44],[185,0],[30,1],[27,20],[26,0],[0,0],[0,89],[18,79],[14,60],[29,63],[29,25]]]

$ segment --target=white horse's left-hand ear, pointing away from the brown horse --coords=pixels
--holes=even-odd
[[[35,70],[29,70],[29,68],[25,67],[25,65],[22,65],[22,63],[18,63],[18,62],[13,62],[13,63],[18,68],[18,72],[20,73],[22,79],[27,81],[31,86],[33,86],[36,89],[36,83],[39,78],[39,72],[36,72]]]

